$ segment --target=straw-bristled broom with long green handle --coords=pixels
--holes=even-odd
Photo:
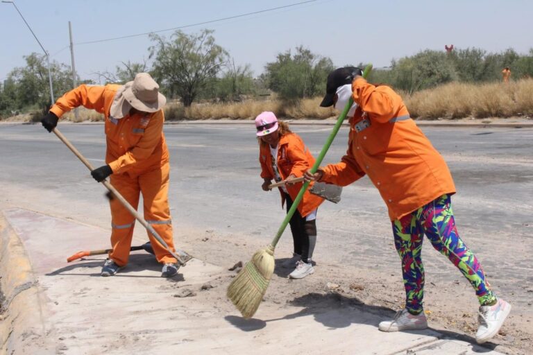
[[[364,69],[363,78],[366,78],[369,75],[371,69],[372,64],[368,64]],[[352,105],[353,98],[350,98],[346,107],[344,107],[344,110],[337,119],[337,123],[335,123],[328,139],[326,139],[319,156],[316,158],[316,161],[311,168],[312,173],[316,172],[325,157],[325,153],[328,153],[328,149],[330,148],[333,139],[335,139],[337,132],[339,132],[342,122],[346,119],[346,115]],[[264,293],[267,292],[270,279],[274,272],[274,250],[276,249],[276,245],[278,244],[283,231],[285,231],[285,227],[289,224],[289,220],[291,220],[294,211],[296,211],[296,208],[300,204],[303,193],[305,193],[309,184],[309,181],[303,184],[300,192],[298,192],[298,196],[296,196],[291,208],[287,212],[287,216],[285,216],[285,219],[281,223],[272,243],[270,243],[267,248],[257,250],[257,252],[253,254],[251,261],[246,263],[244,268],[242,268],[235,279],[233,279],[230,286],[228,286],[228,292],[226,295],[228,296],[228,299],[235,304],[235,307],[237,307],[244,318],[251,318],[255,314],[255,311],[257,311],[263,299]]]

